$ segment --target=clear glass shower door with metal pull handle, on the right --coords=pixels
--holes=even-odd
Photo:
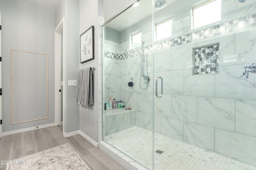
[[[256,2],[181,0],[163,8],[159,2],[154,170],[255,169]],[[203,14],[215,21],[207,16],[200,27],[193,24],[196,12],[212,9]]]

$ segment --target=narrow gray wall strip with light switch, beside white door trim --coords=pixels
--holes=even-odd
[[[79,0],[66,1],[66,81],[76,80],[79,69],[80,34]],[[65,74],[65,73],[64,73]],[[68,82],[64,82],[66,85]],[[76,86],[67,86],[65,133],[79,130],[79,105],[76,101]]]

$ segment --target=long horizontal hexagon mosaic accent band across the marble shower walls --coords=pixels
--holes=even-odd
[[[162,49],[168,49],[170,47],[183,45],[187,43],[191,43],[194,41],[199,41],[202,39],[207,39],[211,37],[215,37],[218,35],[223,35],[226,33],[232,33],[235,31],[243,30],[250,27],[256,26],[256,14],[249,15],[246,17],[238,18],[232,21],[227,21],[224,23],[220,23],[218,25],[214,25],[212,27],[208,27],[205,29],[201,29],[199,31],[195,31],[193,33],[189,33],[186,35],[182,35],[176,38],[168,39],[166,41],[162,41],[159,43],[156,43],[154,45],[154,50],[159,51]],[[141,49],[138,49],[138,51],[141,53]],[[148,51],[148,53],[152,53],[153,48],[152,45],[144,47],[143,51]],[[111,59],[117,59],[117,60],[123,60],[130,57],[138,56],[137,51],[128,51],[127,53],[123,54],[116,54],[111,53],[108,51],[104,51],[104,57],[111,58]]]

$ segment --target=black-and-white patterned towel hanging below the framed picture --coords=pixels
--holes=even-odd
[[[78,70],[76,81],[76,103],[85,106],[94,104],[91,67]]]

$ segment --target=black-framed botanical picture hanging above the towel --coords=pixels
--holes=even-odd
[[[94,59],[94,26],[80,35],[80,63]]]

